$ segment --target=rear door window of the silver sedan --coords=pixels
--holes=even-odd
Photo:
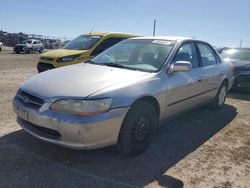
[[[198,43],[198,48],[201,54],[202,66],[214,65],[217,63],[213,49],[207,44]]]

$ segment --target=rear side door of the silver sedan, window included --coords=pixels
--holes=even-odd
[[[220,86],[220,81],[223,78],[222,69],[220,68],[222,64],[210,45],[197,42],[197,47],[204,73],[204,87],[206,87],[207,90],[207,92],[204,93],[204,98],[211,99],[215,97]]]

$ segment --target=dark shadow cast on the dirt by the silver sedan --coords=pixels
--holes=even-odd
[[[32,169],[33,165],[37,165],[36,163],[39,162],[38,158],[42,157],[43,159],[48,159],[46,160],[48,164],[43,165],[42,163],[35,172],[27,172],[30,181],[24,184],[26,187],[27,185],[29,186],[31,182],[36,183],[34,181],[37,178],[48,180],[50,178],[48,176],[51,176],[51,173],[50,168],[48,169],[47,167],[48,165],[53,166],[54,164],[67,167],[67,169],[70,168],[73,171],[105,178],[109,181],[121,182],[124,183],[124,185],[141,187],[153,181],[157,181],[159,185],[165,187],[183,187],[184,185],[181,180],[166,176],[164,173],[227,126],[236,115],[236,108],[229,105],[225,105],[220,111],[212,111],[206,107],[202,107],[175,119],[162,122],[155,142],[145,153],[132,158],[116,153],[113,147],[93,151],[76,151],[62,148],[53,144],[44,143],[21,130],[3,136],[0,139],[0,146],[4,144],[4,147],[0,147],[0,163],[4,164],[4,161],[6,162],[6,164],[1,167],[0,174],[6,172],[6,184],[10,181],[17,181],[14,177],[17,175],[22,176],[20,175],[22,174],[20,172],[21,167],[17,169],[17,171],[11,169],[15,169],[15,164],[19,164],[16,160],[19,159],[22,161],[25,157],[32,160],[32,163],[26,160],[26,162],[19,164],[21,166],[25,165],[25,167],[28,166],[25,169],[29,171],[29,168]],[[18,148],[21,148],[21,150],[25,152],[20,155],[18,152],[16,153],[15,150],[8,149],[8,146],[11,145],[17,145]],[[4,152],[7,152],[8,154],[6,155],[8,156],[3,156]],[[34,154],[32,158],[27,156],[29,153]],[[18,157],[13,158],[12,156]],[[5,157],[5,159],[3,157]],[[39,171],[39,169],[41,171]],[[8,170],[12,172],[7,173]],[[54,176],[57,178],[58,173],[58,171],[54,172]],[[37,177],[38,174],[40,177]],[[77,181],[81,182],[81,180],[84,181],[84,179],[81,178]],[[60,187],[63,187],[57,181],[63,180],[54,179],[53,186],[58,187],[58,185],[60,185]],[[65,181],[67,181],[67,179],[65,179]],[[63,185],[67,186],[67,182],[65,183],[66,184]],[[20,183],[15,185],[20,185]],[[38,183],[36,183],[36,185],[39,186]],[[123,184],[120,185],[124,186]],[[118,186],[116,185],[114,187]]]

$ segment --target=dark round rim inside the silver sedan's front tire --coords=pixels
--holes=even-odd
[[[135,122],[132,128],[133,142],[140,143],[146,139],[150,128],[149,124],[150,124],[149,121],[144,117],[139,118]]]

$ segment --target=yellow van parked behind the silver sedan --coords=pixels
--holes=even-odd
[[[37,65],[38,72],[86,62],[114,44],[139,35],[113,32],[85,33],[69,41],[62,49],[44,53]]]

